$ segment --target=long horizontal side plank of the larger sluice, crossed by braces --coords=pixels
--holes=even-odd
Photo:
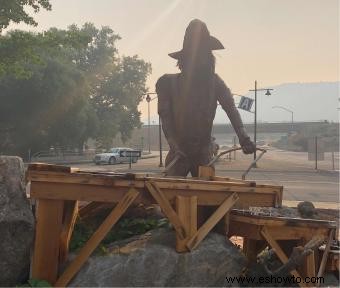
[[[121,197],[129,190],[130,186],[111,187],[102,185],[87,185],[87,184],[71,184],[71,183],[48,183],[36,182],[31,183],[31,198],[34,199],[59,199],[59,200],[79,200],[79,201],[97,201],[97,202],[112,202],[117,203]],[[140,195],[136,199],[136,203],[146,205],[156,204],[156,201],[151,197],[150,193],[144,188],[132,186],[140,191]],[[144,192],[145,191],[145,192]],[[232,191],[207,191],[207,190],[176,190],[162,189],[168,201],[175,203],[176,196],[197,196],[198,205],[202,206],[219,206],[225,198],[231,195]],[[247,209],[249,206],[273,207],[277,194],[274,193],[253,193],[239,192],[240,201],[235,207]]]

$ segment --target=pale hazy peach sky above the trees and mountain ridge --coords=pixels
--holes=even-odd
[[[122,55],[152,64],[150,91],[159,76],[176,72],[167,56],[182,47],[190,20],[207,23],[226,47],[215,52],[217,73],[234,93],[288,82],[338,81],[338,0],[51,0],[52,11],[35,16],[37,28],[93,22],[110,26]],[[156,113],[156,101],[151,106]],[[145,106],[141,105],[145,118]]]

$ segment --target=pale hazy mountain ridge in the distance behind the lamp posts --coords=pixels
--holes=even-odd
[[[340,82],[286,83],[266,87],[274,90],[271,96],[266,96],[264,91],[258,92],[257,119],[259,122],[291,121],[291,113],[272,108],[283,106],[293,111],[294,121],[339,122],[339,87]],[[254,98],[254,92],[249,92],[245,96]],[[235,102],[238,103],[239,97],[234,97]],[[240,109],[239,111],[245,123],[254,121],[253,113]],[[214,123],[229,123],[221,107],[217,109]]]

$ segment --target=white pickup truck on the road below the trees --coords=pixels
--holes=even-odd
[[[93,162],[96,165],[105,163],[105,164],[117,164],[117,163],[129,163],[130,162],[130,157],[125,157],[122,156],[125,151],[134,151],[131,148],[125,148],[125,147],[118,147],[118,148],[111,148],[109,152],[106,153],[100,153],[96,154]],[[132,163],[136,163],[138,160],[138,157],[133,156],[132,157]]]

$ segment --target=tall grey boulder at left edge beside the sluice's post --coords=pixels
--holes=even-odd
[[[34,216],[19,157],[0,156],[0,235],[0,286],[13,286],[29,275],[34,239]]]

